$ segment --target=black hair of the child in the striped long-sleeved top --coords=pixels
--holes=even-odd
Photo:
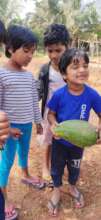
[[[20,47],[31,47],[34,45],[37,46],[37,38],[30,29],[19,25],[11,25],[8,27],[5,49],[7,57],[11,57],[9,49],[15,52]]]

